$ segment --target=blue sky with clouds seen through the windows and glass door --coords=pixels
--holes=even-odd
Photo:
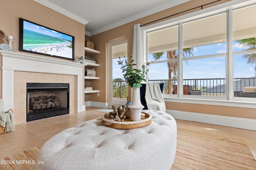
[[[233,51],[244,50],[243,45],[233,42]],[[192,52],[194,56],[226,53],[226,43],[217,43],[194,47]],[[166,59],[164,56],[162,59]],[[148,61],[152,61],[152,55],[148,56]],[[113,61],[113,78],[123,78],[118,59]],[[225,57],[213,57],[207,59],[188,60],[183,63],[183,78],[225,78],[226,76],[226,59]],[[255,76],[254,65],[247,64],[247,60],[242,55],[234,56],[234,77],[253,77]],[[168,79],[167,63],[156,63],[149,66],[149,80],[166,80]]]

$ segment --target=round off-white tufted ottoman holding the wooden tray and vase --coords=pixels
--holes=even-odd
[[[152,123],[120,130],[101,118],[80,123],[49,139],[38,153],[39,170],[170,170],[176,153],[177,125],[162,111],[145,110]]]

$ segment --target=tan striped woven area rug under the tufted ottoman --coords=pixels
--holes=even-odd
[[[0,170],[35,170],[40,147],[4,157]],[[21,164],[16,163],[21,162]],[[177,149],[171,170],[256,170],[256,161],[244,141],[178,129]]]

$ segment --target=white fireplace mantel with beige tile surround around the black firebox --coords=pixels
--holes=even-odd
[[[82,101],[84,64],[0,50],[2,98],[14,109],[15,124],[26,122],[26,83],[69,83],[70,113],[85,111]]]

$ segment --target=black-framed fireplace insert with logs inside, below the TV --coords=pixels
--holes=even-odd
[[[27,122],[69,113],[68,83],[27,83]]]

